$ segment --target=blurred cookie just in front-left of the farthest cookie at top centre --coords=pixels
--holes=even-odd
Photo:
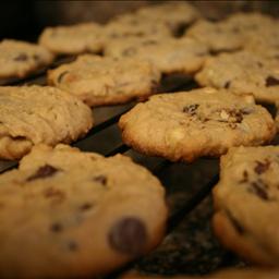
[[[121,14],[105,26],[104,36],[107,41],[128,37],[170,37],[170,29],[161,22],[149,21],[136,13]]]

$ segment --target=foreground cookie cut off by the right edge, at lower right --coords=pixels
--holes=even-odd
[[[279,263],[279,147],[231,148],[214,189],[214,229],[225,246],[262,265]]]

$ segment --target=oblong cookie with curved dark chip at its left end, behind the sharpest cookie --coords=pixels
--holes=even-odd
[[[160,72],[148,61],[84,54],[48,73],[48,82],[89,106],[122,104],[154,93]]]

